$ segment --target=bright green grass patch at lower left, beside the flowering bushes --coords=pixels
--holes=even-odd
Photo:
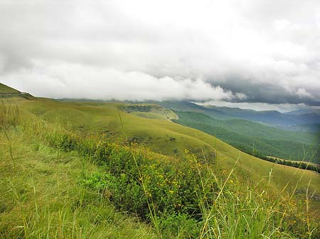
[[[6,132],[12,156],[0,133],[1,239],[157,238],[151,226],[119,213],[99,191],[81,183],[101,171],[95,163],[50,148],[21,129]]]

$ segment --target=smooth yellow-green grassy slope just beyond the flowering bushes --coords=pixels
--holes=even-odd
[[[295,172],[294,168],[273,165],[256,157],[241,152],[227,143],[211,135],[193,128],[180,126],[166,120],[141,118],[131,113],[119,111],[123,104],[102,103],[71,103],[38,99],[36,101],[18,101],[21,110],[32,113],[48,122],[63,122],[70,125],[73,130],[80,131],[82,135],[92,133],[105,133],[112,140],[123,140],[127,143],[139,143],[155,152],[165,155],[181,156],[185,150],[219,165],[231,167],[239,157],[238,167],[243,174],[267,177],[273,167],[274,182],[286,184],[284,178],[290,179]],[[120,118],[121,117],[121,121]],[[215,157],[216,156],[216,157]],[[302,171],[303,174],[309,172]],[[287,174],[287,176],[286,176]],[[313,176],[314,174],[309,174]],[[292,176],[299,179],[299,174]],[[319,180],[316,177],[316,180]],[[306,185],[309,179],[302,179]],[[294,184],[290,184],[294,187]],[[311,187],[319,190],[320,184],[311,182]],[[302,187],[302,186],[301,186]]]

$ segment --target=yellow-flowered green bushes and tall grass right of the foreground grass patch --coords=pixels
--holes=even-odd
[[[83,181],[87,187],[109,191],[119,210],[153,223],[159,237],[316,238],[316,220],[313,230],[307,229],[309,211],[297,217],[301,208],[292,204],[294,194],[274,191],[271,175],[258,187],[252,182],[244,187],[236,167],[219,173],[188,153],[183,160],[159,158],[148,150],[96,138],[82,139],[80,145],[72,137],[58,138],[63,139],[60,145],[78,148],[105,169],[89,175]]]

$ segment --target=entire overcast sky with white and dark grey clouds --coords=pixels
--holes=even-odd
[[[320,1],[0,0],[0,82],[52,98],[320,106]]]

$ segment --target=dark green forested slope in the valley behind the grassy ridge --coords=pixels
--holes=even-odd
[[[320,161],[319,152],[313,155],[319,145],[317,134],[280,130],[241,119],[219,121],[203,113],[180,111],[176,113],[179,119],[175,122],[214,135],[245,152],[255,150],[265,156]]]

